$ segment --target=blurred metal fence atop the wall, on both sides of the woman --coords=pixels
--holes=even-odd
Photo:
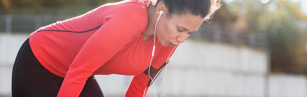
[[[66,15],[0,15],[0,32],[29,33],[42,26],[63,21],[75,16]],[[263,32],[247,32],[239,29],[214,26],[204,22],[198,32],[190,39],[211,42],[228,43],[232,45],[246,45],[252,48],[266,47],[266,34]]]

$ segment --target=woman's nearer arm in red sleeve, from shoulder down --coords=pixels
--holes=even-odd
[[[147,12],[140,6],[113,10],[77,54],[61,85],[58,97],[77,97],[89,76],[145,30]]]

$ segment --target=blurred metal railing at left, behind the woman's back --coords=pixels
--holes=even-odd
[[[56,21],[75,16],[69,15],[0,15],[0,32],[29,33]]]

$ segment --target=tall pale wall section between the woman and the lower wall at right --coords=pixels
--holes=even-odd
[[[196,41],[180,46],[171,59],[164,86],[171,95],[264,96],[263,51]]]

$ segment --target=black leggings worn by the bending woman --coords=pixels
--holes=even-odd
[[[29,38],[18,51],[12,74],[13,97],[56,97],[64,78],[45,69],[35,58]],[[80,97],[103,97],[95,79],[87,79]]]

